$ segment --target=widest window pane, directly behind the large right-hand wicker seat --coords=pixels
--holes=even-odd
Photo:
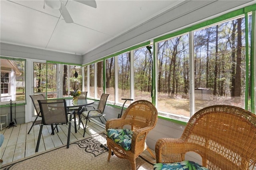
[[[195,111],[217,104],[244,108],[245,18],[194,32]]]

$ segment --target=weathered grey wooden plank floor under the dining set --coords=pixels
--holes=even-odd
[[[103,126],[99,126],[96,123],[93,123],[93,121],[88,121],[86,134],[83,137],[84,129],[82,125],[80,125],[80,129],[78,130],[78,120],[76,123],[77,133],[75,133],[74,121],[72,120],[70,142],[82,140],[93,134],[106,131]],[[32,122],[16,125],[16,127],[3,128],[3,130],[0,131],[1,134],[4,134],[4,143],[0,148],[0,158],[3,159],[3,162],[0,163],[0,167],[4,164],[67,144],[68,125],[58,125],[59,132],[57,133],[55,130],[54,135],[51,135],[52,130],[50,126],[44,126],[39,150],[38,152],[35,152],[40,126],[35,125],[30,133],[27,134],[31,125]]]

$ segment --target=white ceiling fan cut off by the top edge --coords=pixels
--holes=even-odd
[[[95,0],[74,0],[74,1],[91,6],[93,8],[97,8],[97,4]],[[52,9],[58,9],[60,11],[60,14],[62,14],[66,23],[73,23],[73,20],[66,6],[61,0],[44,0],[44,4],[46,4]],[[45,5],[44,5],[44,9],[45,9]]]

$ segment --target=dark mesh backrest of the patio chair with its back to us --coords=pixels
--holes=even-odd
[[[38,100],[44,125],[68,123],[65,99]]]

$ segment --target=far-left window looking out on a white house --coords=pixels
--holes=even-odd
[[[25,64],[26,60],[0,57],[1,102],[10,100],[25,103]]]

